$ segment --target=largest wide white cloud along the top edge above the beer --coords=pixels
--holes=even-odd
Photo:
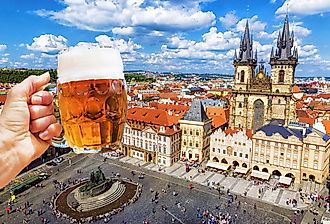
[[[93,31],[128,26],[151,30],[189,30],[214,23],[215,15],[210,11],[201,11],[199,2],[63,0],[65,8],[61,11],[39,10],[36,13],[64,25]]]

